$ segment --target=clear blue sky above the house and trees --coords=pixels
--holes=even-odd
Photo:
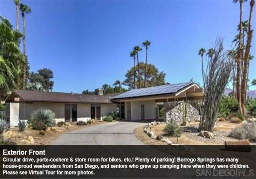
[[[224,38],[226,49],[239,23],[232,0],[21,0],[26,16],[26,53],[30,71],[54,72],[53,91],[82,92],[124,80],[133,65],[133,46],[150,40],[148,62],[170,83],[194,78],[202,84],[198,50]],[[249,17],[249,1],[244,19]],[[255,10],[255,9],[254,9]],[[15,24],[13,0],[0,1],[0,15]],[[255,14],[253,14],[255,29]],[[22,21],[20,20],[22,27]],[[22,28],[20,28],[22,31]],[[255,34],[251,53],[255,54]],[[140,53],[145,59],[145,50]],[[255,59],[250,80],[256,78]],[[250,90],[256,89],[250,87]]]

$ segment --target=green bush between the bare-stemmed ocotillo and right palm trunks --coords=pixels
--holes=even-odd
[[[218,111],[218,117],[229,118],[232,114],[238,112],[237,101],[229,96],[223,95],[221,99],[221,104]]]

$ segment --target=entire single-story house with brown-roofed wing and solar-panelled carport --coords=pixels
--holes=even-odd
[[[102,89],[96,90],[96,95],[14,90],[6,101],[6,118],[17,126],[19,119],[27,120],[33,111],[45,107],[55,113],[56,122],[102,120],[112,111],[127,121],[156,119],[159,103],[202,98],[203,90],[193,82],[108,95],[103,95]]]

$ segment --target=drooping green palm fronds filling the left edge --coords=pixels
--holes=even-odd
[[[21,37],[22,34],[13,30],[8,20],[0,17],[0,100],[17,86],[18,64],[24,60],[18,46]]]

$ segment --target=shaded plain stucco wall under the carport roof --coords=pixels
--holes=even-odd
[[[141,120],[141,105],[144,104],[144,118],[156,118],[156,101],[131,101],[131,118],[132,121]]]

